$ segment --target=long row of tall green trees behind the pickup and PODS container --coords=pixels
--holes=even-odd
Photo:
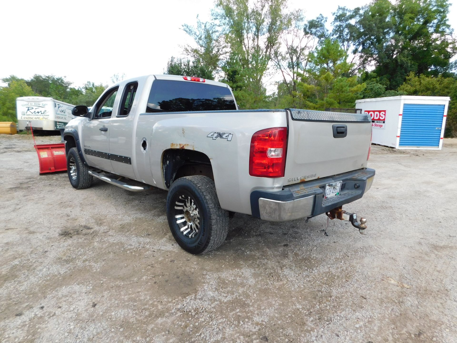
[[[212,20],[167,74],[228,83],[240,108],[354,108],[381,96],[450,96],[447,136],[457,136],[457,52],[447,0],[375,0],[306,19],[287,0],[217,0]],[[327,27],[331,27],[328,29]],[[281,76],[271,88],[271,78]]]

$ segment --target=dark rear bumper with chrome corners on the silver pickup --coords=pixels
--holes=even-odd
[[[315,217],[360,199],[374,175],[374,169],[366,168],[286,186],[279,192],[256,190],[250,196],[252,215],[270,221]],[[335,181],[342,181],[340,194],[324,199],[325,185]]]

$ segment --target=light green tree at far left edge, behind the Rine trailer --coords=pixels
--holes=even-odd
[[[36,95],[24,80],[11,76],[8,86],[0,87],[0,122],[17,122],[16,98]],[[2,80],[5,82],[5,79]]]

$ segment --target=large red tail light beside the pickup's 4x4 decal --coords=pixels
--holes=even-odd
[[[286,166],[287,128],[271,128],[252,135],[249,175],[283,177]]]

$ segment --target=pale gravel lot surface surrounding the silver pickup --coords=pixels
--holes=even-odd
[[[38,137],[37,143],[60,137]],[[345,209],[286,223],[237,214],[193,256],[166,193],[38,175],[30,136],[0,137],[0,342],[457,342],[457,139],[373,146]]]

